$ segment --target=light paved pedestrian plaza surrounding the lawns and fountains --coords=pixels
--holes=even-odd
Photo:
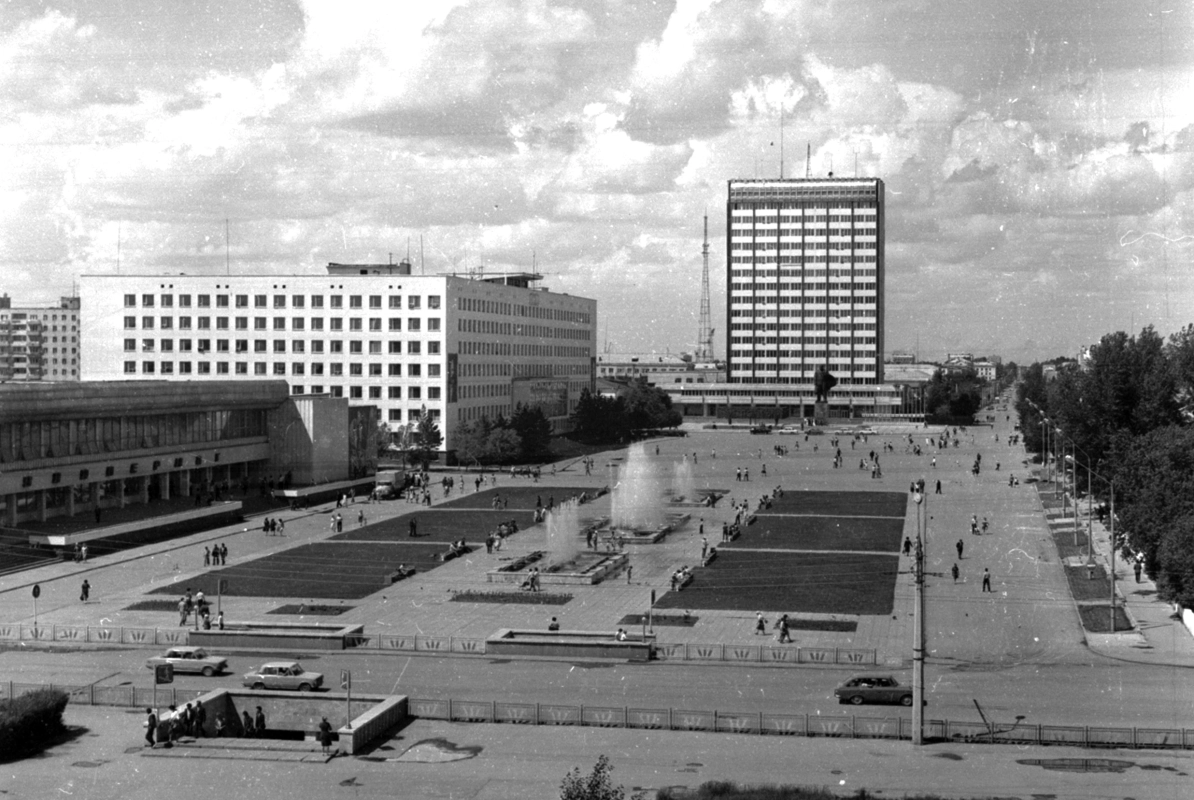
[[[1057,518],[1060,510],[1050,510],[1048,515],[1042,510],[1028,480],[1030,472],[1022,449],[1007,444],[1010,425],[1001,419],[993,427],[959,432],[959,447],[942,451],[929,444],[940,429],[880,425],[878,435],[857,442],[845,433],[849,429],[843,429],[839,436],[844,463],[833,468],[832,433],[807,438],[757,436],[690,424],[687,437],[650,442],[648,459],[660,474],[669,475],[687,457],[697,488],[722,490],[726,497],[715,507],[694,509],[688,523],[661,543],[630,548],[629,573],[617,573],[596,586],[568,586],[572,599],[564,605],[461,603],[454,602],[453,595],[506,590],[488,583],[486,573],[546,547],[544,525],[530,522],[535,499],[559,503],[579,491],[596,492],[608,486],[626,457],[624,450],[597,455],[591,475],[585,474],[579,461],[561,462],[546,468],[537,482],[498,474],[496,482],[491,478],[478,493],[473,474],[462,473],[457,486],[468,491],[461,496],[457,490],[455,497],[444,498],[437,486],[431,507],[390,500],[339,510],[334,504],[304,511],[279,509],[270,515],[285,521],[284,536],[264,534],[259,513],[234,528],[105,555],[87,564],[59,562],[10,574],[0,579],[0,621],[32,622],[30,590],[39,584],[41,623],[176,627],[178,617],[172,611],[129,607],[153,597],[177,597],[187,587],[214,595],[217,571],[204,568],[203,555],[205,547],[222,543],[229,549],[228,564],[220,572],[230,584],[229,595],[221,599],[229,621],[265,619],[295,603],[337,603],[347,610],[320,621],[362,623],[369,634],[486,638],[505,627],[546,627],[550,616],[558,616],[565,628],[607,630],[618,627],[627,615],[645,614],[654,595],[661,608],[700,608],[698,621],[691,627],[657,628],[660,642],[759,644],[756,611],[763,611],[769,622],[788,613],[810,621],[856,623],[853,630],[794,626],[796,646],[874,650],[880,663],[897,666],[909,660],[912,622],[911,559],[898,543],[904,537],[915,539],[913,506],[906,498],[910,484],[923,478],[928,485],[930,658],[984,664],[1065,660],[1089,644],[1137,660],[1194,663],[1194,647],[1184,629],[1168,619],[1168,607],[1146,593],[1150,585],[1134,584],[1121,564],[1119,579],[1127,579],[1122,583],[1124,595],[1132,617],[1143,622],[1140,630],[1083,633],[1051,537],[1051,524],[1066,521]],[[909,451],[909,436],[922,448],[922,455]],[[891,445],[891,453],[885,451],[885,444]],[[776,455],[776,445],[787,448],[786,455]],[[857,461],[872,450],[879,454],[882,466],[878,478],[869,469],[857,468]],[[979,454],[984,469],[974,476],[970,467]],[[749,470],[750,480],[736,480],[739,470]],[[1021,480],[1018,486],[1008,485],[1011,475]],[[941,492],[936,493],[938,480]],[[733,519],[734,504],[746,501],[753,507],[776,487],[783,490],[783,497],[763,510],[739,541],[722,546],[721,527]],[[494,509],[494,493],[504,494],[507,504]],[[605,496],[584,505],[581,518],[608,516],[609,503]],[[344,517],[339,535],[330,528],[337,511]],[[357,523],[362,511],[367,517],[363,527]],[[407,536],[411,516],[426,537]],[[985,535],[971,535],[972,516],[989,522]],[[854,524],[842,528],[850,522],[847,517]],[[501,550],[487,554],[484,534],[501,518],[516,519],[522,530],[509,537]],[[455,539],[466,539],[474,549],[447,564],[436,561],[447,542]],[[706,573],[708,580],[702,580],[698,567],[706,543],[702,540],[722,548]],[[959,541],[964,547],[960,559],[955,549]],[[1106,564],[1106,531],[1097,524],[1095,549]],[[749,567],[741,571],[749,564],[741,559],[757,561],[759,555],[770,561],[765,577],[758,572],[751,576]],[[386,573],[395,562],[425,568],[387,585]],[[950,576],[954,564],[959,567],[956,581]],[[696,567],[696,578],[689,587],[671,592],[670,578],[684,566]],[[738,583],[757,589],[780,586],[787,579],[810,597],[817,595],[817,584],[811,581],[823,581],[835,590],[851,580],[890,581],[890,589],[870,592],[872,597],[887,598],[878,605],[844,602],[799,608],[780,601],[758,608],[758,595],[753,599],[734,597],[736,568],[745,578]],[[984,568],[991,574],[991,592],[980,590]],[[261,579],[266,573],[272,583]],[[92,586],[87,603],[79,601],[84,579]],[[718,585],[720,591],[715,591]],[[562,591],[550,586],[547,590]],[[710,595],[720,598],[709,601]],[[782,598],[783,593],[773,596]],[[690,605],[685,598],[691,598]]]

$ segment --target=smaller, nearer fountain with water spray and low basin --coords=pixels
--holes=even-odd
[[[562,503],[547,515],[547,549],[535,550],[487,573],[490,583],[522,585],[533,568],[538,568],[540,584],[601,583],[622,570],[629,558],[616,553],[592,553],[581,536],[580,504]]]

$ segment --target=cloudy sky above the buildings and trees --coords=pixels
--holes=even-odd
[[[602,351],[689,351],[708,215],[724,356],[726,185],[781,161],[884,179],[888,351],[1194,321],[1188,2],[0,2],[19,304],[410,252],[597,299]]]

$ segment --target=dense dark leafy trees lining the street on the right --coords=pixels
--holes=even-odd
[[[1030,451],[1044,450],[1047,429],[1058,447],[1076,445],[1079,487],[1088,470],[1100,497],[1114,486],[1125,552],[1143,554],[1162,598],[1187,608],[1194,608],[1192,399],[1194,326],[1168,340],[1150,326],[1104,336],[1082,364],[1033,364],[1016,402]]]

